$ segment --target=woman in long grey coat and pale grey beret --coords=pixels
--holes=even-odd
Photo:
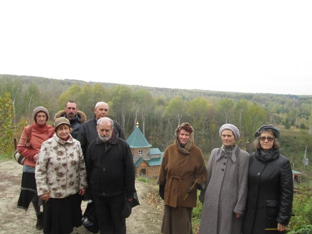
[[[244,214],[249,154],[241,150],[235,140],[239,130],[223,124],[219,130],[222,146],[213,149],[209,158],[199,233],[240,234],[241,215]]]

